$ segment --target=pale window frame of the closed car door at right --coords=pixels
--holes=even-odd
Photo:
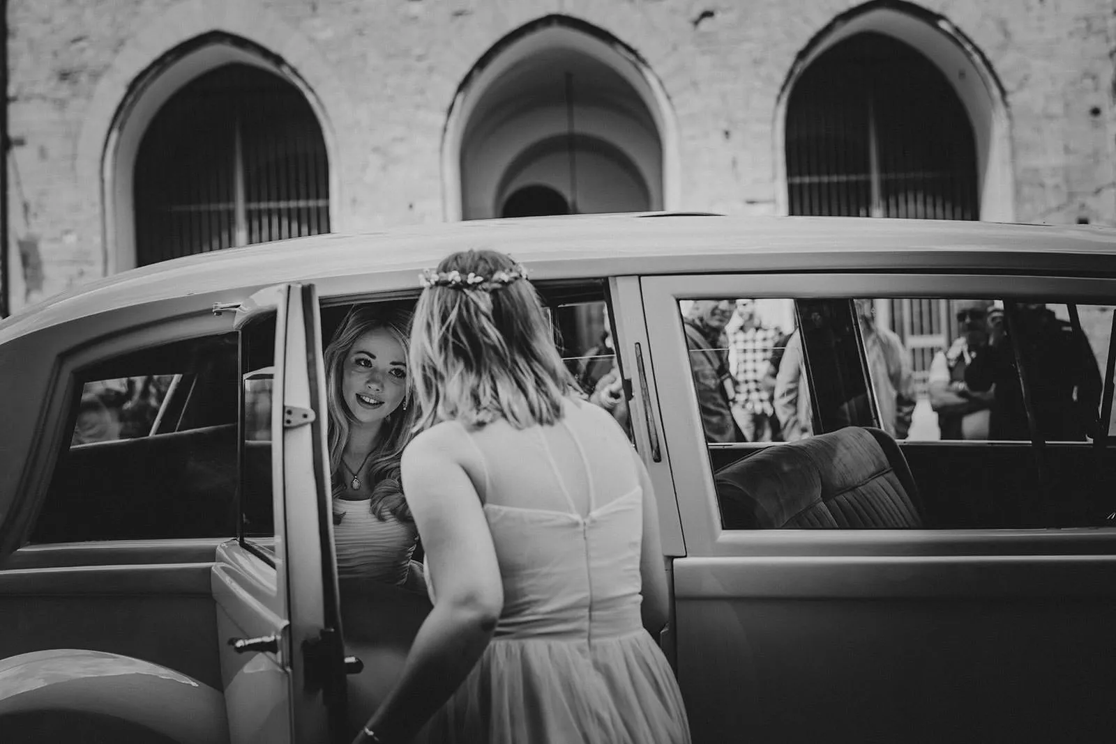
[[[687,402],[685,405],[660,407],[662,433],[676,482],[687,555],[895,555],[897,551],[906,552],[911,546],[918,544],[936,546],[933,550],[991,554],[1077,554],[1116,547],[1116,528],[1096,527],[965,530],[725,530],[721,527],[700,414],[695,403],[689,404],[695,401],[695,392],[685,353],[680,300],[993,295],[1004,300],[1050,297],[1054,301],[1057,297],[1076,304],[1113,304],[1116,298],[1116,277],[1011,275],[1009,285],[1004,281],[1008,273],[740,272],[642,276],[645,323],[656,384],[660,390],[684,390]],[[973,444],[987,446],[981,442]],[[1090,447],[1091,442],[1080,444]]]

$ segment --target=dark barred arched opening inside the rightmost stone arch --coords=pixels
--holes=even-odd
[[[980,217],[973,127],[932,61],[863,32],[822,52],[787,102],[793,215]]]

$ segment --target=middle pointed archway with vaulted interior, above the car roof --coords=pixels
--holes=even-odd
[[[559,68],[571,70],[576,88],[562,89]],[[530,100],[521,95],[528,90]],[[550,150],[562,138],[598,184],[623,184],[615,193],[629,194],[633,205],[645,194],[644,206],[635,208],[677,208],[677,127],[658,78],[608,32],[568,16],[546,16],[500,39],[458,87],[442,134],[445,218],[499,214],[507,189],[522,185],[512,170],[532,183],[541,178],[571,204],[581,202],[571,192],[585,195],[591,178],[574,164],[558,177]],[[531,153],[540,159],[526,161]],[[608,208],[607,199],[597,198]]]

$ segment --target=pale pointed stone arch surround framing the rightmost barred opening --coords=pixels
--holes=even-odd
[[[949,19],[904,0],[872,0],[836,17],[798,53],[779,91],[775,111],[776,198],[788,214],[787,110],[790,94],[820,56],[863,33],[879,33],[913,48],[952,86],[969,117],[977,153],[979,218],[1013,222],[1014,177],[1007,95],[991,63]]]

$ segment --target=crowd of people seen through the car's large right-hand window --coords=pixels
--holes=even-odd
[[[1086,438],[1083,422],[1096,418],[1100,376],[1080,330],[1046,305],[1017,303],[1017,355],[1002,303],[955,300],[951,305],[960,335],[936,351],[924,376],[936,438],[1027,441],[1032,427],[1047,440]],[[895,439],[906,439],[918,398],[911,352],[893,330],[877,322],[875,301],[858,298],[853,306],[878,424]],[[841,343],[833,341],[841,334],[827,326],[830,319],[817,309],[807,311],[807,341]],[[815,412],[797,321],[790,329],[766,324],[753,300],[698,300],[685,309],[683,329],[709,442],[791,442],[812,433]],[[1024,405],[1020,359],[1035,421],[1029,421]],[[820,382],[815,379],[815,384]],[[860,409],[860,420],[867,410]]]

